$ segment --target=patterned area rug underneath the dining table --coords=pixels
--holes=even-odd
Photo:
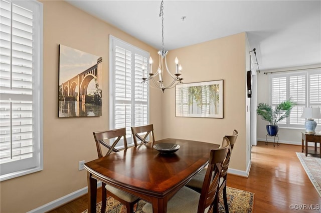
[[[227,201],[229,205],[229,212],[231,213],[250,213],[253,209],[253,200],[254,200],[254,193],[249,191],[240,190],[237,188],[227,187]],[[134,211],[137,213],[143,213],[142,207],[146,202],[140,200],[137,205],[134,207]],[[223,205],[222,205],[222,204]],[[222,194],[220,195],[220,203],[219,209],[220,213],[225,212],[224,210],[224,203]],[[101,209],[101,202],[97,203],[96,212],[100,212]],[[118,200],[115,200],[112,197],[107,198],[107,207],[106,213],[126,213],[126,207],[121,204]],[[88,209],[83,211],[82,213],[88,213]]]

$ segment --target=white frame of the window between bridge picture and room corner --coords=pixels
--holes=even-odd
[[[114,53],[113,53],[113,49],[115,48],[115,45],[119,45],[121,46],[122,48],[125,48],[126,50],[130,50],[132,52],[132,55],[138,53],[140,55],[142,55],[143,57],[146,57],[146,58],[149,58],[149,52],[143,50],[143,49],[140,49],[130,43],[127,43],[113,35],[109,35],[109,128],[110,129],[115,129],[115,122],[114,122],[114,117],[115,117],[115,98],[114,98],[114,92],[115,92],[115,70],[114,70],[114,67],[115,67],[115,58],[114,58]],[[133,59],[132,59],[132,64],[131,64],[131,70],[135,70],[134,69],[134,66],[135,66],[135,60],[134,60],[134,56],[133,56]],[[147,64],[145,65],[145,67],[148,67]],[[149,71],[149,70],[147,70]],[[135,94],[135,90],[134,90],[134,83],[135,83],[135,74],[132,74],[132,91],[131,91],[131,94],[132,94],[132,98],[130,100],[131,102],[131,111],[133,112],[132,113],[132,117],[131,117],[131,126],[134,125],[134,117],[135,117],[135,114],[134,114],[134,106],[135,106],[135,102],[141,102],[141,101],[135,101],[134,100],[134,94]],[[150,118],[150,115],[149,115],[149,92],[150,92],[150,87],[147,85],[147,123],[149,123],[149,118]],[[125,127],[125,126],[123,126]],[[131,129],[130,127],[126,126],[126,131],[127,132],[131,132]],[[128,129],[129,128],[129,129]],[[133,138],[132,138],[132,134],[130,133],[127,133],[126,134],[126,139],[127,139],[127,145],[128,146],[133,146],[134,145],[134,141],[133,141]],[[124,145],[122,143],[122,141],[120,141],[118,143],[119,145],[117,145],[117,148],[123,148]]]

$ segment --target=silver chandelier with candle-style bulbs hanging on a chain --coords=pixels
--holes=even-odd
[[[159,88],[162,90],[164,93],[165,89],[173,88],[175,87],[176,84],[178,83],[183,83],[181,78],[182,74],[182,66],[179,64],[179,60],[176,57],[175,58],[175,64],[176,64],[176,72],[175,74],[172,74],[167,66],[167,60],[166,60],[166,55],[169,51],[165,50],[164,48],[164,1],[162,0],[161,6],[160,6],[160,11],[159,11],[159,17],[162,17],[162,49],[159,50],[157,53],[159,54],[159,65],[157,68],[157,71],[155,73],[152,73],[152,58],[149,57],[149,73],[147,73],[147,76],[145,77],[145,67],[142,65],[142,83],[147,83],[149,86],[153,88]],[[164,85],[164,70],[166,70],[170,76],[173,78],[172,82],[165,86]],[[157,80],[157,75],[158,79]],[[156,78],[156,79],[155,79]],[[153,82],[153,85],[150,85],[150,81]]]

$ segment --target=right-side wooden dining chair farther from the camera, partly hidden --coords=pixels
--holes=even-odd
[[[223,166],[222,166],[222,172],[220,174],[220,182],[219,182],[219,192],[218,194],[221,194],[221,192],[223,192],[223,200],[224,200],[224,208],[225,208],[225,212],[228,213],[229,212],[229,207],[228,207],[228,203],[227,203],[227,194],[226,194],[226,179],[227,179],[227,170],[230,164],[230,158],[231,158],[231,154],[232,154],[232,150],[234,147],[234,144],[236,142],[236,138],[238,136],[238,131],[236,129],[233,130],[233,134],[232,135],[226,135],[225,137],[227,137],[230,141],[230,146],[226,155],[226,159],[223,162]],[[224,142],[224,140],[223,140]],[[186,186],[189,188],[192,188],[195,191],[201,192],[202,187],[203,187],[203,181],[205,178],[205,173],[206,170],[202,169],[198,174],[196,174],[187,184]]]

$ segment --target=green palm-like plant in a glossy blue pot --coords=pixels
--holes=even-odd
[[[267,133],[270,136],[277,134],[279,130],[277,123],[290,116],[290,112],[295,105],[296,103],[293,102],[291,98],[280,102],[274,109],[268,103],[259,103],[257,105],[256,113],[260,115],[263,120],[270,123],[266,125]]]

